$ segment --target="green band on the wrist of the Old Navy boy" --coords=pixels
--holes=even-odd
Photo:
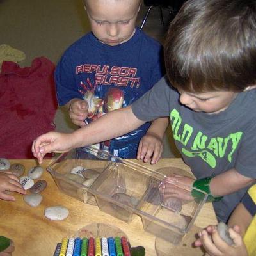
[[[212,177],[207,177],[205,179],[195,180],[195,182],[193,183],[194,188],[200,189],[205,193],[207,193],[208,197],[206,202],[214,202],[214,201],[221,200],[222,198],[222,196],[216,197],[211,194],[211,190],[210,190],[211,179]],[[200,193],[200,191],[197,191],[195,189],[191,191],[191,195],[193,196],[193,198],[195,198],[196,201],[200,201],[204,198],[204,194]]]

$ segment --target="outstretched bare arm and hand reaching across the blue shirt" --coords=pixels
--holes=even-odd
[[[38,158],[39,163],[42,163],[44,155],[49,152],[65,152],[72,148],[110,140],[131,132],[144,123],[145,121],[136,118],[131,106],[128,106],[111,111],[70,134],[48,132],[39,136],[33,141],[32,152]]]

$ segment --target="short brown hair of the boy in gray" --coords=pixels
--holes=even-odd
[[[188,92],[241,92],[256,83],[256,1],[189,0],[170,24],[166,72]]]

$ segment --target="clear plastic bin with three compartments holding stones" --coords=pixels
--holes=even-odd
[[[74,180],[70,172],[77,166],[84,168],[83,175],[86,170],[93,170],[97,177],[89,183],[88,179],[87,183],[80,178]],[[189,231],[207,199],[207,194],[198,189],[202,194],[199,202],[168,199],[159,191],[165,175],[91,147],[61,154],[47,170],[67,195],[97,204],[101,211],[127,223],[134,214],[139,215],[145,231],[173,244],[179,244]],[[184,184],[175,186],[191,190]]]

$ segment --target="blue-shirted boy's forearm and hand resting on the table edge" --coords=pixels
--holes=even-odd
[[[169,124],[169,118],[163,117],[154,120],[147,133],[140,141],[137,159],[144,159],[147,163],[152,157],[151,164],[157,163],[163,152],[163,136]]]

